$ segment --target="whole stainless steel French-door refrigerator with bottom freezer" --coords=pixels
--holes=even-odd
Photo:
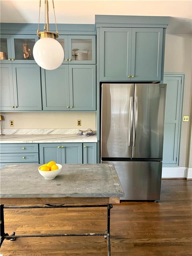
[[[101,163],[113,163],[124,200],[159,200],[166,84],[102,84]]]

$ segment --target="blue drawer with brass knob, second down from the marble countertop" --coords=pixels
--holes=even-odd
[[[13,153],[13,154],[0,154],[1,163],[26,163],[26,162],[39,162],[38,153]]]

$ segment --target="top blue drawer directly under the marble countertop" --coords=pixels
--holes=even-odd
[[[38,153],[38,144],[1,144],[1,153]]]

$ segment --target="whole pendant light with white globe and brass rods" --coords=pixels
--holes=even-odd
[[[53,0],[52,0],[53,2]],[[39,2],[39,20],[40,20],[40,8],[41,0]],[[53,10],[55,16],[55,8],[53,2]],[[47,16],[47,28],[46,28],[46,16]],[[64,51],[61,44],[56,40],[58,38],[57,23],[55,17],[56,33],[49,31],[49,4],[48,0],[45,0],[45,25],[44,31],[39,32],[39,22],[37,35],[40,39],[35,43],[33,47],[33,57],[37,64],[44,69],[53,70],[58,68],[64,59]]]

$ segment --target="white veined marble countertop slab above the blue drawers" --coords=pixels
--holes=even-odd
[[[77,134],[9,134],[1,136],[0,143],[70,143],[97,142],[96,135]]]

